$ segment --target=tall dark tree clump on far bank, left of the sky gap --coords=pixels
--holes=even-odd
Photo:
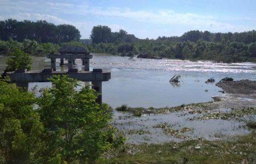
[[[23,41],[24,39],[35,40],[40,43],[61,43],[78,41],[81,35],[73,25],[55,25],[45,20],[36,22],[30,20],[17,21],[7,19],[0,21],[0,40]]]

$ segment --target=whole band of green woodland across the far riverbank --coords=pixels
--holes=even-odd
[[[112,32],[97,25],[91,40],[80,40],[80,32],[72,25],[54,25],[46,21],[0,21],[0,55],[19,48],[30,55],[57,53],[61,46],[84,46],[95,53],[113,55],[146,54],[148,58],[212,60],[217,62],[255,62],[256,32],[211,33],[189,31],[182,36],[139,39],[125,30]],[[1,41],[2,40],[2,41]]]

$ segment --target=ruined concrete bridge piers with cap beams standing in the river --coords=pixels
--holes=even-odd
[[[89,54],[88,50],[72,46],[60,49],[60,54],[48,54],[48,58],[51,59],[51,68],[43,69],[42,71],[15,71],[7,72],[7,76],[10,77],[11,82],[16,83],[18,87],[28,88],[28,83],[33,82],[48,82],[49,77],[54,75],[68,75],[73,79],[79,81],[91,81],[92,88],[96,90],[98,95],[97,102],[102,103],[102,81],[108,81],[111,79],[111,72],[103,71],[102,69],[93,69],[89,71],[89,59],[92,59],[92,55]],[[60,58],[64,63],[64,58],[68,59],[68,72],[56,71],[56,58]],[[78,71],[73,68],[73,61],[75,59],[82,59],[84,63],[84,70]]]

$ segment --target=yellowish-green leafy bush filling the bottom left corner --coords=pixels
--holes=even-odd
[[[40,163],[43,125],[34,94],[0,81],[0,163]]]

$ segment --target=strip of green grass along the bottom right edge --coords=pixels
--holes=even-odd
[[[123,145],[98,163],[254,163],[255,133],[229,141],[189,140],[163,145]]]

